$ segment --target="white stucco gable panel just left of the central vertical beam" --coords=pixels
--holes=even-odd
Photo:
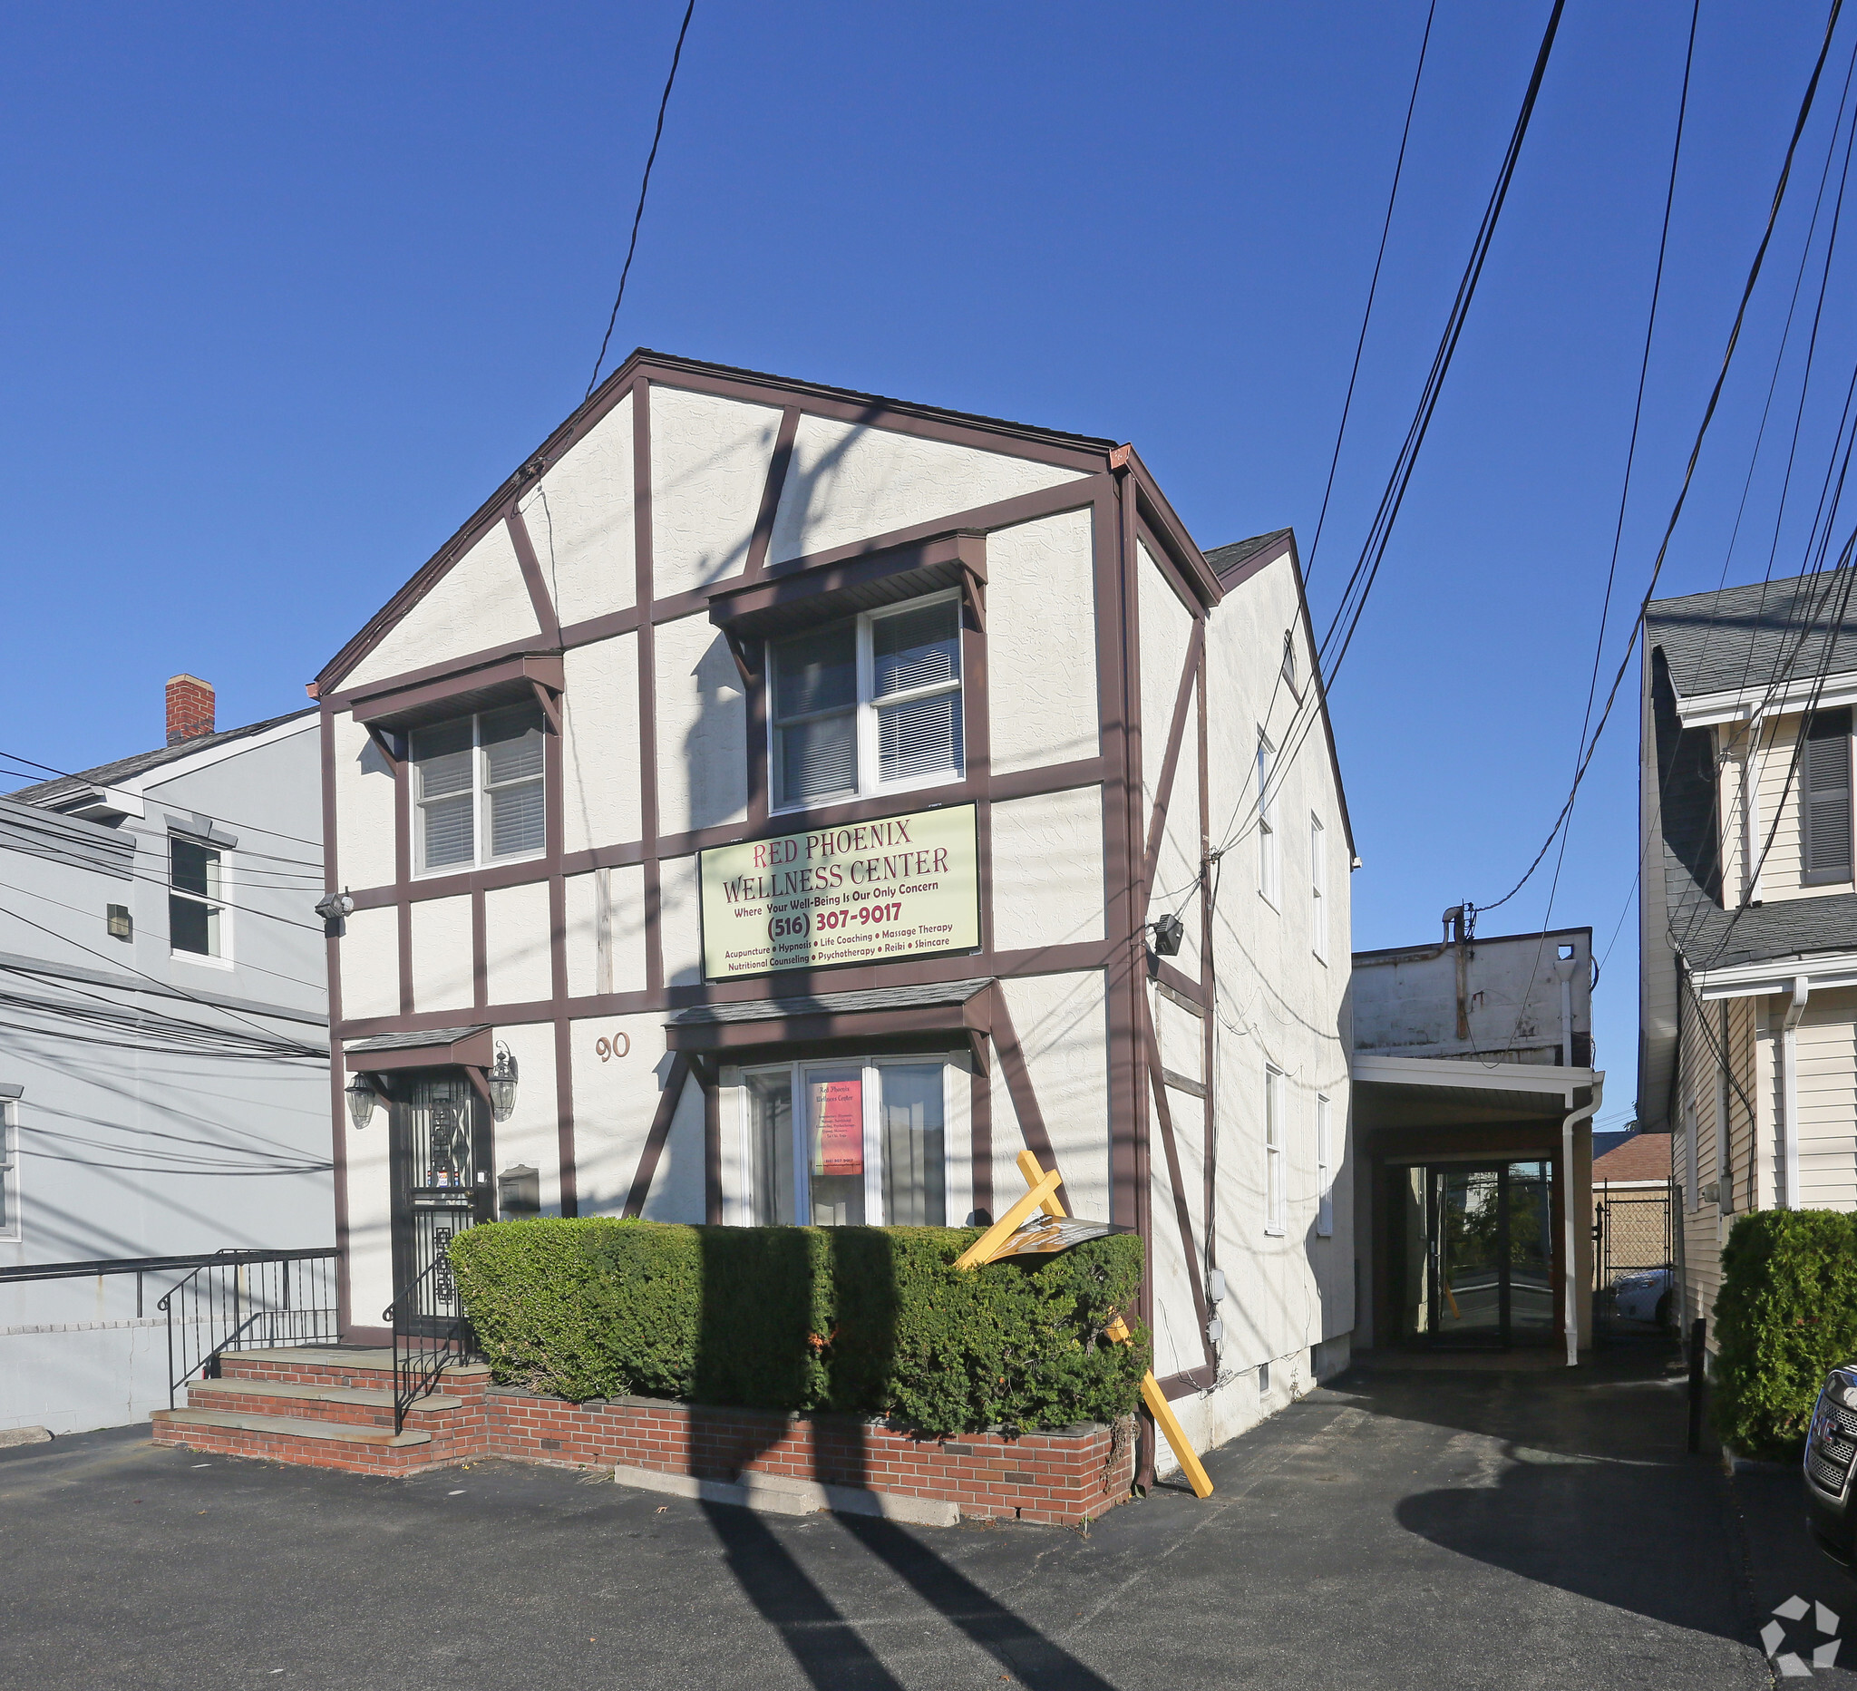
[[[563,624],[637,603],[631,395],[576,440],[520,503]]]

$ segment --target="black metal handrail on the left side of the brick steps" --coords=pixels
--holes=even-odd
[[[227,1351],[338,1344],[332,1247],[316,1251],[215,1251],[156,1309],[167,1316],[167,1405],[195,1375],[219,1377]],[[162,1259],[141,1259],[145,1264]],[[76,1264],[71,1264],[76,1266]],[[167,1262],[163,1266],[180,1266]],[[121,1270],[123,1273],[134,1270]],[[143,1273],[149,1271],[145,1266]],[[178,1340],[178,1361],[176,1361]]]

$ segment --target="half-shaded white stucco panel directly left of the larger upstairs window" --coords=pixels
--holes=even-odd
[[[748,815],[748,704],[728,642],[708,616],[659,624],[657,824],[721,828]]]

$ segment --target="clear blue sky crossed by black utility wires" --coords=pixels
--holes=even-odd
[[[217,683],[225,724],[303,702],[303,681],[581,397],[680,17],[11,13],[0,746],[76,767],[154,744],[175,670]],[[1313,568],[1318,626],[1545,17],[1545,0],[1441,0]],[[1643,592],[1822,19],[1703,7],[1625,605]],[[1307,555],[1422,22],[1404,0],[698,0],[615,349],[1133,440],[1201,544],[1294,525]],[[1447,904],[1497,898],[1571,778],[1686,28],[1668,0],[1567,9],[1333,696],[1365,861],[1357,947],[1426,939]],[[1842,48],[1833,63],[1664,592],[1723,574]],[[1857,345],[1848,265],[1831,290],[1820,356],[1837,379],[1820,397],[1842,395]],[[1786,368],[1796,384],[1796,355]],[[1790,407],[1786,375],[1779,392]],[[1801,445],[1814,488],[1822,410],[1814,399]],[[1731,581],[1766,566],[1777,468],[1770,444]],[[1777,574],[1799,568],[1798,548],[1788,523]],[[1601,952],[1638,850],[1627,687],[1554,902]],[[1486,932],[1538,926],[1545,895],[1543,876]],[[1627,919],[1597,1000],[1604,1121],[1629,1116],[1634,930]]]

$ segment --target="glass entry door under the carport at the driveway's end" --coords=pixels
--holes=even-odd
[[[1552,1164],[1417,1164],[1395,1175],[1400,1336],[1547,1344],[1554,1335]]]

